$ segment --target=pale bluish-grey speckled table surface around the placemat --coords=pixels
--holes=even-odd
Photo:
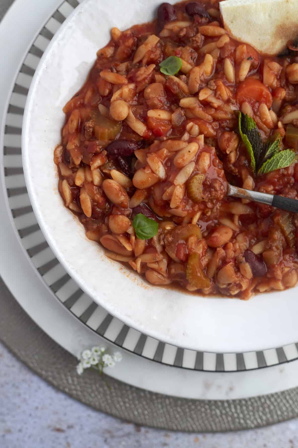
[[[0,0],[0,19],[12,3]],[[298,448],[298,419],[226,434],[183,434],[135,426],[55,390],[0,344],[0,448],[96,447]]]

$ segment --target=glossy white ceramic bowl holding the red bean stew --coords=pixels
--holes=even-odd
[[[297,288],[248,302],[153,287],[109,261],[67,210],[58,191],[53,151],[62,108],[82,86],[113,26],[154,18],[161,0],[86,0],[63,23],[35,73],[25,108],[22,153],[32,206],[50,247],[80,287],[109,313],[158,340],[207,352],[245,352],[298,341]],[[174,3],[174,1],[172,2]]]

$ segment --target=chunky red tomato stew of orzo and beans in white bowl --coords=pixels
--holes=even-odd
[[[248,299],[298,282],[298,215],[226,197],[228,181],[298,198],[298,53],[235,41],[218,3],[113,28],[63,109],[55,163],[107,256],[151,284]]]

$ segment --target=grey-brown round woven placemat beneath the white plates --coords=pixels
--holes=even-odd
[[[114,417],[166,430],[219,432],[266,426],[298,416],[298,388],[227,401],[165,396],[112,378],[108,378],[107,388],[95,371],[76,375],[76,358],[29,318],[2,280],[0,310],[0,340],[17,358],[60,391]]]

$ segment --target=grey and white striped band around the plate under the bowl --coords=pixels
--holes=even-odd
[[[40,31],[25,56],[11,95],[4,131],[4,177],[9,207],[21,244],[44,282],[70,312],[103,338],[144,358],[192,370],[231,372],[260,369],[298,359],[298,343],[249,353],[203,353],[165,344],[123,324],[77,286],[50,250],[32,210],[21,159],[21,126],[35,69],[50,40],[78,5],[67,0]]]

